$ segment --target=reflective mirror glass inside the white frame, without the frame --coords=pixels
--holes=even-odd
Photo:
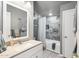
[[[27,36],[27,12],[7,4],[6,14],[11,38]]]

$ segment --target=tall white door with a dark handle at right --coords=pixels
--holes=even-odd
[[[65,57],[72,57],[76,39],[74,34],[74,12],[70,9],[62,12],[62,53]]]

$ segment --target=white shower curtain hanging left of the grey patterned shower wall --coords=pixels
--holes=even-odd
[[[38,29],[38,38],[40,41],[45,43],[46,39],[46,17],[41,17],[39,19],[39,29]],[[44,44],[45,46],[45,44]]]

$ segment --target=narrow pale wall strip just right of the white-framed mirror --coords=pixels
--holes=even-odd
[[[29,11],[29,39],[34,39],[33,37],[33,2],[30,2],[31,7],[28,9]]]

